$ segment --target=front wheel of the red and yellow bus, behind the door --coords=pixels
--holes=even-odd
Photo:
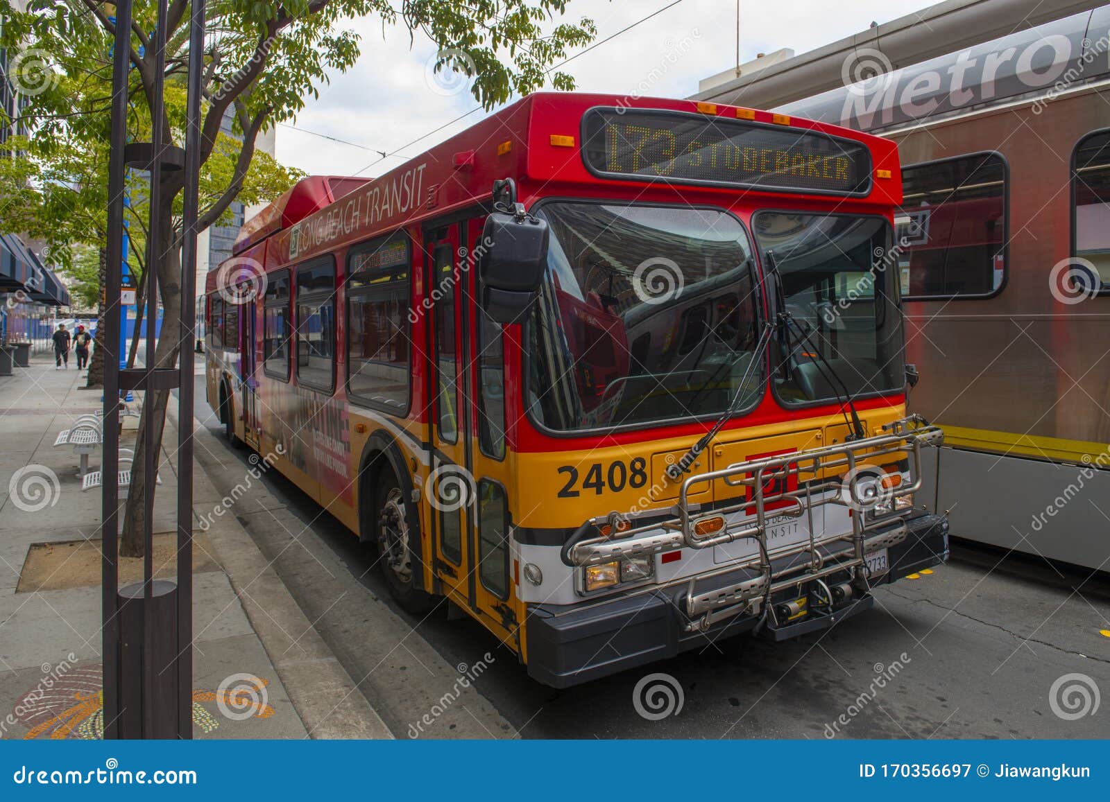
[[[418,529],[412,526],[410,505],[391,468],[383,468],[375,484],[374,542],[382,577],[390,595],[405,612],[423,615],[432,609],[435,599],[421,587],[424,561]]]

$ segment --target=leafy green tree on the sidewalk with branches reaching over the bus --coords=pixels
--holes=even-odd
[[[539,89],[547,81],[556,89],[573,88],[571,77],[553,71],[553,64],[565,59],[569,48],[587,44],[596,30],[587,19],[575,23],[559,21],[567,3],[568,0],[403,0],[398,10],[392,0],[281,3],[213,0],[206,7],[210,35],[204,54],[201,136],[201,162],[203,174],[209,176],[205,192],[210,202],[201,214],[200,226],[219,221],[236,197],[243,200],[252,164],[258,162],[259,132],[294,119],[305,99],[317,95],[330,73],[345,71],[355,63],[361,43],[345,28],[345,21],[373,17],[382,22],[383,34],[395,23],[407,29],[410,39],[416,32],[426,34],[440,48],[437,67],[461,69],[471,75],[474,97],[488,109],[514,94]],[[157,6],[151,0],[135,3],[129,87],[130,126],[135,140],[159,125],[164,141],[183,143],[189,10],[188,0],[170,0],[165,28],[165,113],[152,120],[155,61],[150,31]],[[49,158],[64,149],[69,132],[78,132],[82,144],[97,151],[98,164],[105,164],[111,99],[111,64],[107,54],[114,34],[110,10],[98,0],[31,0],[26,13],[16,13],[9,0],[0,0],[0,13],[9,20],[3,37],[17,58],[34,51],[43,62],[41,75],[47,88],[31,98],[31,106],[24,113],[32,132],[30,140],[42,139],[40,153]],[[34,63],[29,58],[20,61],[23,68],[33,68]],[[372,97],[367,93],[367,98]],[[221,123],[229,113],[234,121],[233,140],[220,134]],[[230,171],[213,166],[226,167],[229,163]],[[97,177],[90,174],[88,180],[100,181],[102,175],[103,170],[99,169]],[[182,233],[173,221],[180,210],[183,180],[181,172],[163,173],[163,202],[155,210],[162,233],[160,241],[151,244],[151,251],[161,254],[153,268],[158,271],[164,308],[153,363],[163,368],[176,364],[182,335]],[[42,184],[32,189],[42,190]],[[95,191],[103,193],[103,184]],[[107,197],[102,200],[101,207],[107,207]],[[191,342],[191,337],[190,333],[185,342]],[[134,455],[137,469],[132,473],[121,544],[121,554],[125,556],[142,554],[141,501],[150,480],[140,468],[144,459],[143,433],[148,426],[155,427],[155,448],[161,448],[168,398],[168,393],[152,392],[144,399]]]

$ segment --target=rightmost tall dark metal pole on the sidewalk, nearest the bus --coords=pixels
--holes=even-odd
[[[193,737],[193,341],[196,329],[196,217],[201,172],[201,77],[205,0],[189,20],[189,97],[185,106],[184,243],[181,253],[181,353],[178,384],[178,737]],[[186,343],[188,338],[188,343]]]

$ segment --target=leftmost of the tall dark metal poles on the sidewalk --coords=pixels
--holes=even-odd
[[[118,517],[119,487],[117,475],[120,458],[120,364],[118,355],[111,352],[119,347],[120,282],[123,268],[123,187],[127,170],[124,148],[127,146],[128,119],[128,73],[131,57],[131,0],[119,0],[115,4],[115,47],[112,51],[112,130],[111,150],[108,164],[108,264],[104,281],[104,454],[101,460],[100,520],[103,560],[101,564],[101,629],[102,653],[104,657],[104,738],[119,738],[120,720],[120,676],[119,642],[120,630],[117,586],[119,573]]]

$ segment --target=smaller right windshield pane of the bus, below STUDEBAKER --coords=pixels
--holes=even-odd
[[[890,251],[887,221],[760,212],[751,227],[781,277],[780,307],[798,324],[779,339],[777,363],[785,359],[788,367],[776,374],[778,397],[808,403],[835,399],[845,389],[852,396],[899,389],[905,367],[897,253]]]

